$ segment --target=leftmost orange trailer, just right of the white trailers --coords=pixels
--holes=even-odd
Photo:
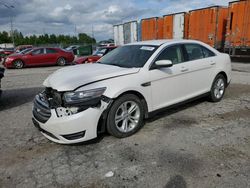
[[[141,40],[163,38],[163,18],[153,17],[141,20]]]

